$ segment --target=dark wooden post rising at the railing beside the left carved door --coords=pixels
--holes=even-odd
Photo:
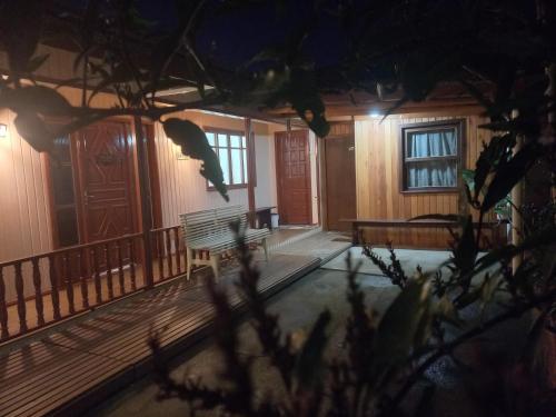
[[[149,158],[147,148],[147,136],[142,129],[141,118],[133,118],[135,135],[137,143],[137,161],[139,167],[139,192],[141,198],[141,228],[143,235],[143,259],[142,271],[147,287],[152,287],[152,241],[150,230],[152,229],[152,205],[149,178]]]

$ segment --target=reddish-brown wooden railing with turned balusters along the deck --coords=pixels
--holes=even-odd
[[[0,264],[0,342],[95,309],[186,271],[178,226]],[[153,260],[152,271],[145,258]]]

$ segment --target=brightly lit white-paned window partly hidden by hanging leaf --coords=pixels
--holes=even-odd
[[[222,168],[224,182],[230,188],[247,186],[247,142],[242,132],[207,129],[209,145]],[[209,189],[212,183],[208,182]]]

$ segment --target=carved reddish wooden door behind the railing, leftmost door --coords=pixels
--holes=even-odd
[[[82,244],[137,230],[131,136],[123,122],[103,121],[76,133]]]

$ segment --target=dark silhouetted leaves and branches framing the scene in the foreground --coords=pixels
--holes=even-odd
[[[450,217],[460,221],[461,232],[453,235],[453,256],[446,265],[449,274],[417,270],[408,275],[394,251],[388,265],[370,248],[366,249],[369,258],[400,287],[399,296],[378,317],[365,304],[357,284],[357,267],[350,265],[347,357],[325,359],[325,330],[330,320],[327,311],[296,349],[291,335],[285,335],[277,317],[267,312],[257,291],[258,272],[247,248],[240,245],[242,272],[238,290],[286,394],[279,399],[256,398],[251,363],[236,353],[237,324],[230,305],[226,295],[209,284],[217,308],[217,342],[225,359],[221,380],[229,388],[214,389],[199,380],[175,381],[160,363],[162,396],[178,396],[190,401],[193,409],[221,407],[244,416],[427,415],[435,389],[430,383],[424,386],[424,378],[431,365],[455,356],[456,348],[499,324],[535,310],[538,318],[523,357],[512,368],[514,373],[503,375],[502,361],[487,358],[483,361],[486,376],[471,378],[474,383],[487,383],[484,389],[475,389],[475,397],[488,415],[543,415],[556,409],[554,393],[547,393],[537,380],[532,354],[539,335],[554,328],[554,208],[527,211],[524,218],[530,216],[534,221],[526,221],[523,242],[504,245],[484,256],[479,256],[478,248],[484,217],[507,198],[532,167],[543,162],[549,170],[547,182],[556,186],[553,2],[307,2],[309,24],[304,21],[301,27],[285,26],[287,33],[280,37],[279,44],[262,46],[239,66],[226,66],[214,51],[199,47],[202,23],[217,16],[231,19],[251,8],[276,9],[278,16],[290,18],[291,13],[285,12],[289,3],[216,3],[214,7],[203,0],[177,1],[176,27],[160,33],[141,17],[133,1],[88,1],[85,9],[71,13],[69,30],[60,33],[64,42],[78,46],[76,77],[52,87],[37,82],[34,73],[49,59],[37,54],[39,42],[56,34],[44,32],[47,23],[52,14],[63,16],[56,9],[58,2],[3,1],[0,41],[9,71],[0,79],[0,108],[13,111],[21,136],[36,150],[47,152],[56,138],[108,117],[160,121],[186,155],[202,160],[201,175],[225,198],[222,173],[205,135],[191,122],[167,119],[167,115],[211,106],[290,106],[317,135],[326,136],[324,93],[366,92],[380,100],[400,93],[401,98],[388,110],[391,112],[409,101],[427,99],[438,86],[458,83],[483,106],[490,118],[484,128],[495,135],[485,143],[475,166],[474,188],[467,190],[470,207],[478,212],[479,227],[474,229],[471,218],[465,214]],[[334,41],[327,42],[324,34],[331,28],[336,28],[329,37]],[[318,48],[311,49],[310,44]],[[314,51],[325,50],[328,56],[335,48],[334,61],[326,61],[322,52]],[[72,106],[60,95],[58,89],[64,85],[81,88],[80,105]],[[195,88],[198,98],[172,106],[157,102],[156,92],[172,87]],[[96,108],[95,96],[106,90],[116,95],[118,105]],[[50,125],[52,117],[62,120],[61,125]],[[522,256],[524,261],[512,269],[512,260]],[[470,308],[479,314],[465,318],[461,311]],[[151,347],[159,354],[156,337]],[[477,388],[480,386],[476,384]],[[488,390],[493,386],[499,389]],[[408,410],[408,396],[415,398],[419,393],[420,400]],[[496,400],[486,405],[484,398],[492,397]]]

